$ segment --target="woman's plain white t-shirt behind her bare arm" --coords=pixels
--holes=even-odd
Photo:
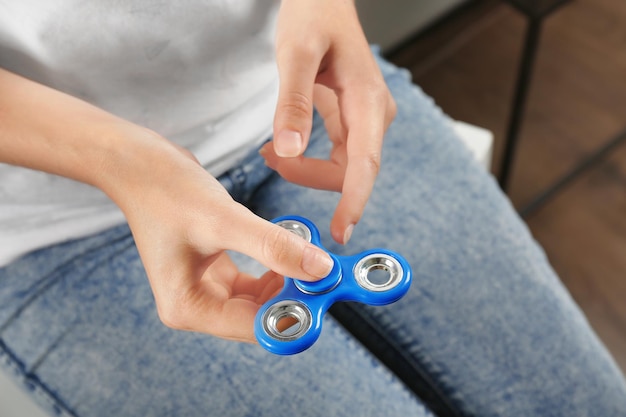
[[[277,6],[0,1],[0,67],[153,129],[217,176],[271,133]],[[123,221],[93,187],[0,164],[0,266]]]

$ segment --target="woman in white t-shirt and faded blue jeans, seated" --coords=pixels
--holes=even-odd
[[[2,362],[60,415],[626,413],[545,257],[353,3],[277,7],[0,3]],[[281,214],[409,260],[407,296],[344,322],[421,398],[331,318],[303,354],[254,345],[283,275],[332,267]]]

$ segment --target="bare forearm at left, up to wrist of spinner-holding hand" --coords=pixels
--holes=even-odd
[[[0,162],[72,178],[111,195],[139,180],[141,164],[149,164],[151,155],[172,147],[148,129],[3,69],[0,91]]]

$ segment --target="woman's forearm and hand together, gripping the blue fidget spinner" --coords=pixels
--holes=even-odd
[[[102,189],[122,209],[159,316],[175,328],[254,342],[282,275],[317,280],[322,249],[235,202],[190,154],[145,128],[0,69],[0,162]],[[270,272],[241,273],[225,250]]]

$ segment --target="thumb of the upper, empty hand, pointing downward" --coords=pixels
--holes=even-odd
[[[313,119],[313,85],[321,57],[299,48],[284,46],[277,51],[280,77],[274,116],[274,152],[296,157],[306,149]]]

